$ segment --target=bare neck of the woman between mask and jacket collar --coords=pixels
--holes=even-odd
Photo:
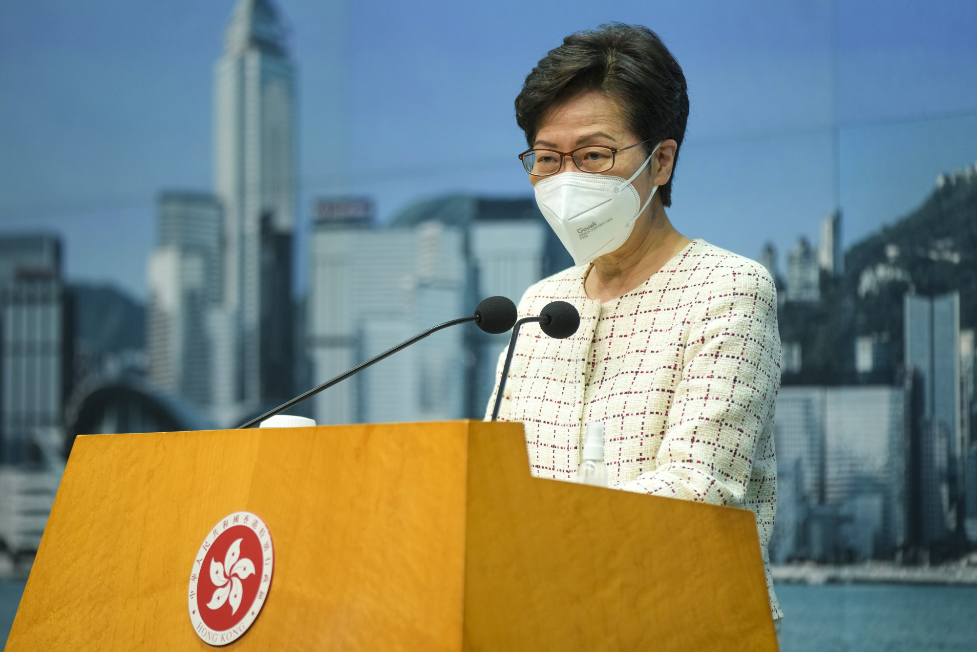
[[[690,242],[675,230],[656,197],[624,244],[590,266],[583,289],[587,297],[602,303],[616,299],[651,278]]]

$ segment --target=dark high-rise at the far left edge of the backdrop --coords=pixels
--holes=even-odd
[[[0,540],[37,550],[61,471],[70,339],[62,243],[0,236]]]

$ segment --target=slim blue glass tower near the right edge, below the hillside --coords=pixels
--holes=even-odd
[[[909,495],[913,543],[944,542],[957,529],[965,445],[961,431],[959,295],[907,294],[905,364],[913,370]]]

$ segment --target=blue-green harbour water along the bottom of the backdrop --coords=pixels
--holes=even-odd
[[[24,584],[0,581],[0,640]],[[782,652],[977,650],[977,587],[786,584],[777,594],[786,614]]]

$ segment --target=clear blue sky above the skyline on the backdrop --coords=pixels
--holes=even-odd
[[[335,193],[373,196],[381,219],[442,192],[530,195],[512,101],[566,34],[609,20],[652,27],[685,70],[669,215],[691,237],[751,257],[769,239],[783,255],[840,205],[848,245],[977,160],[973,2],[278,6],[299,70],[303,224]],[[57,230],[69,277],[144,296],[156,194],[211,185],[212,70],[233,7],[5,3],[0,229]]]

